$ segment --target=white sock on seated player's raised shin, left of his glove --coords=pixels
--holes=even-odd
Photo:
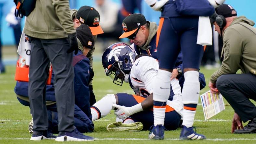
[[[99,118],[103,118],[109,114],[113,109],[112,105],[116,104],[116,98],[114,94],[107,94],[96,102],[91,107],[92,121],[95,121]]]

